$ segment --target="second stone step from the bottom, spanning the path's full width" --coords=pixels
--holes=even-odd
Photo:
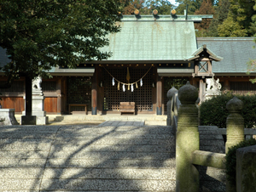
[[[64,167],[45,168],[43,167],[12,167],[4,168],[0,172],[0,179],[147,179],[147,180],[174,180],[176,178],[175,169],[171,168],[84,168],[84,167]]]

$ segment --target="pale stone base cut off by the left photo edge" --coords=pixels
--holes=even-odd
[[[15,118],[15,109],[0,109],[0,125],[19,125],[18,121]]]

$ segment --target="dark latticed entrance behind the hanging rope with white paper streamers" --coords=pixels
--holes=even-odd
[[[103,110],[119,111],[120,102],[135,102],[137,113],[152,111],[155,95],[154,68],[153,67],[128,67],[131,76],[130,82],[137,82],[142,77],[141,82],[133,84],[133,88],[128,88],[119,82],[127,83],[127,67],[104,68],[102,69],[102,88],[104,88]],[[113,85],[113,77],[115,80]]]

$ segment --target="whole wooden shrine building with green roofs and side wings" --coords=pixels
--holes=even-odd
[[[135,114],[166,114],[166,93],[187,81],[203,99],[206,78],[219,79],[223,89],[256,93],[247,75],[247,61],[254,57],[253,38],[195,37],[195,23],[212,15],[124,15],[121,31],[110,34],[112,52],[107,60],[83,63],[76,69],[53,68],[53,78],[43,79],[47,114],[119,114],[120,102],[134,102]],[[8,58],[0,49],[0,62]],[[6,80],[0,72],[0,81]],[[2,108],[24,110],[25,80],[1,89]]]

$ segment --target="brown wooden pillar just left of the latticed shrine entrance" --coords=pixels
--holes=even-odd
[[[95,72],[92,76],[91,83],[91,115],[97,115],[97,90],[98,90],[98,66],[95,67]]]

